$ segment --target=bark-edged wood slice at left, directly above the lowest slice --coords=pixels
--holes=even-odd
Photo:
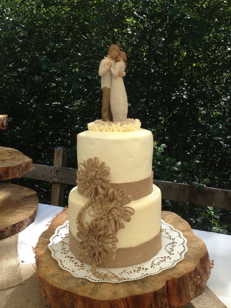
[[[33,169],[30,157],[15,149],[0,147],[0,181],[20,178]]]

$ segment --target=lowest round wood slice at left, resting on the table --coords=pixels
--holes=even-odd
[[[34,190],[0,184],[0,240],[28,227],[35,220],[38,203]]]

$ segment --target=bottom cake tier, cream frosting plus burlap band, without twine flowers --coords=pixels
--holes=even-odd
[[[91,264],[86,256],[81,256],[79,239],[77,237],[76,218],[88,198],[82,196],[74,187],[68,199],[69,207],[69,246],[71,251],[83,262]],[[125,267],[145,262],[151,259],[161,249],[161,192],[153,185],[153,192],[136,201],[129,207],[134,209],[131,221],[124,222],[124,229],[118,230],[118,242],[115,258],[108,258],[100,267]],[[82,216],[82,223],[90,223],[92,217],[88,210]]]

